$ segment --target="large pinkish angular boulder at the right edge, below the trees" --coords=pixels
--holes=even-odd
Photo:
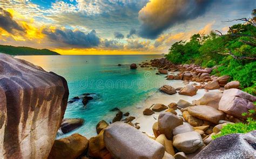
[[[255,96],[239,89],[228,89],[224,91],[220,99],[219,110],[238,118],[246,118],[242,116],[242,113],[254,109],[253,102],[255,101]]]

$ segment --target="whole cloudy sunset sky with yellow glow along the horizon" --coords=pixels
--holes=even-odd
[[[165,54],[180,40],[223,33],[255,0],[0,0],[0,44],[64,55]]]

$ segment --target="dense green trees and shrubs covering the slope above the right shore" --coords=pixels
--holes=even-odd
[[[218,33],[218,34],[217,34]],[[169,49],[167,59],[174,64],[195,63],[214,67],[212,75],[231,76],[241,89],[256,95],[256,27],[250,23],[236,24],[226,34],[192,35],[190,41],[178,41]]]

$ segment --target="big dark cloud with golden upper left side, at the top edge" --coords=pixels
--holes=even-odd
[[[167,28],[203,15],[212,0],[156,0],[150,1],[139,11],[142,25],[138,34],[147,39],[156,39]]]

